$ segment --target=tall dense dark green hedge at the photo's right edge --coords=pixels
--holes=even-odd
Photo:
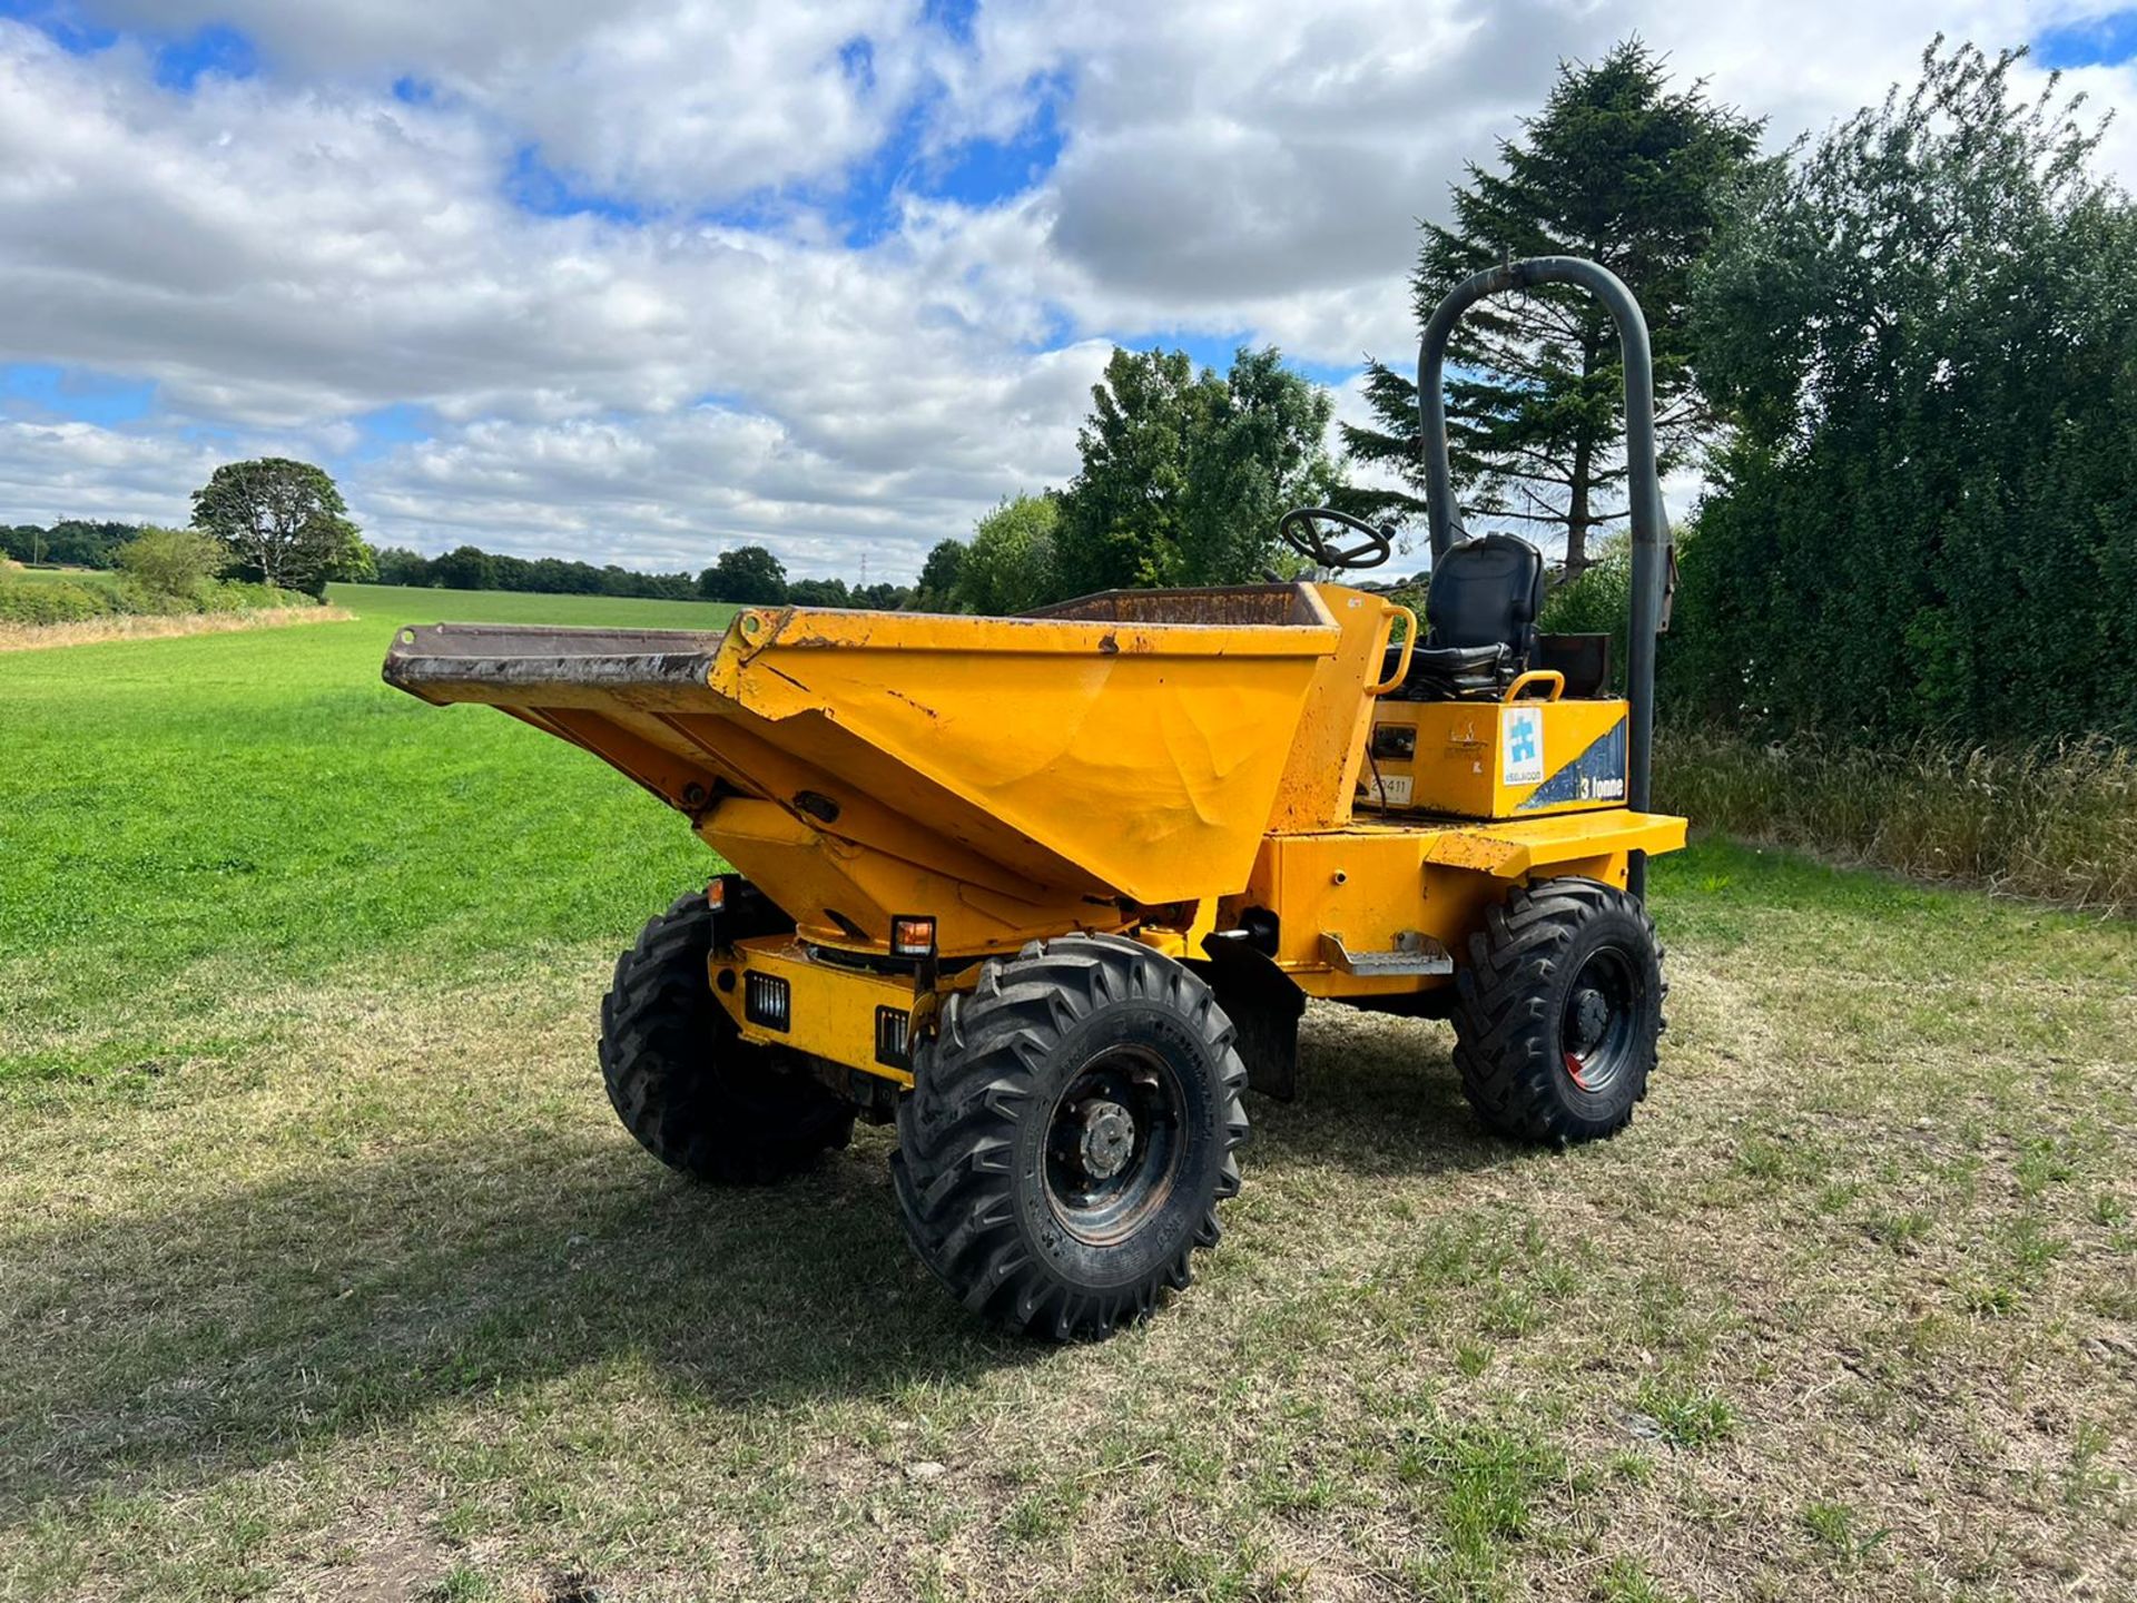
[[[2137,733],[2137,205],[2015,62],[1938,47],[1752,184],[1701,269],[1735,430],[1665,652],[1701,716]]]

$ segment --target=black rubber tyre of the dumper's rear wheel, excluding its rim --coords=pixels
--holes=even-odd
[[[1596,919],[1631,915],[1654,953],[1654,1034],[1641,1043],[1628,1094],[1603,1120],[1575,1116],[1560,1096],[1564,1075],[1558,1020],[1545,1017],[1549,983],[1564,951]],[[1500,1135],[1571,1146],[1601,1141],[1633,1122],[1648,1096],[1656,1039],[1669,1028],[1663,1007],[1669,977],[1648,908],[1626,891],[1590,878],[1519,885],[1487,908],[1483,930],[1468,940],[1468,962],[1455,972],[1455,1069],[1477,1116]]]

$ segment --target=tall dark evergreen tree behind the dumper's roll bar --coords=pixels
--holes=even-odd
[[[1654,338],[1656,438],[1665,472],[1699,436],[1684,306],[1716,205],[1754,158],[1761,122],[1703,85],[1671,90],[1663,58],[1633,38],[1596,64],[1564,62],[1543,113],[1453,188],[1453,222],[1423,222],[1410,291],[1417,321],[1470,274],[1513,256],[1571,254],[1618,274]],[[1468,509],[1564,541],[1579,577],[1596,530],[1624,517],[1618,449],[1624,372],[1603,308],[1577,289],[1498,297],[1462,318],[1449,348],[1449,455]],[[1421,513],[1417,385],[1368,363],[1376,430],[1344,425],[1359,462],[1395,466],[1410,492],[1363,492],[1353,511]]]

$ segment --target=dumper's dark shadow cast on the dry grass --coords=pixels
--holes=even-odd
[[[1308,1024],[1304,1096],[1254,1099],[1254,1173],[1519,1161],[1483,1137],[1445,1030],[1372,1060]],[[1402,1060],[1415,1041],[1417,1058]],[[453,1398],[648,1366],[714,1406],[940,1387],[1051,1349],[977,1325],[906,1248],[863,1131],[763,1190],[688,1184],[622,1133],[470,1131],[209,1201],[0,1240],[0,1515],[186,1481]],[[919,1406],[919,1404],[917,1404]]]

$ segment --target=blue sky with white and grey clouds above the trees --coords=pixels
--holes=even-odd
[[[282,451],[380,541],[906,573],[1073,472],[1116,340],[1357,417],[1415,218],[1558,58],[1641,32],[1793,135],[1938,26],[1810,13],[0,0],[0,522]],[[2126,98],[2137,9],[1996,15]]]

